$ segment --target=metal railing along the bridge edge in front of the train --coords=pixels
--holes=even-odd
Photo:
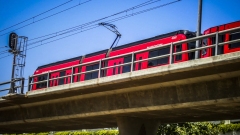
[[[124,66],[124,65],[131,65],[131,72],[132,72],[133,71],[133,65],[135,63],[139,63],[139,62],[143,62],[143,61],[147,61],[147,60],[148,61],[149,60],[155,60],[155,59],[160,59],[160,58],[165,58],[165,57],[169,57],[170,58],[169,64],[172,64],[172,58],[175,55],[179,55],[179,54],[183,54],[183,53],[195,52],[195,51],[199,51],[199,50],[203,50],[203,49],[207,49],[207,48],[213,48],[213,47],[215,47],[215,50],[217,50],[218,46],[240,42],[240,39],[236,39],[236,40],[231,40],[231,41],[218,43],[219,35],[225,34],[225,33],[235,32],[235,31],[238,31],[238,30],[240,30],[240,27],[236,27],[236,28],[232,28],[232,29],[228,29],[228,30],[223,30],[223,31],[218,31],[218,32],[215,32],[215,33],[202,35],[202,36],[198,36],[198,37],[193,37],[193,38],[190,38],[190,39],[185,39],[185,40],[181,40],[181,41],[177,41],[177,42],[172,42],[172,43],[167,43],[167,44],[157,44],[157,45],[155,45],[153,47],[146,48],[146,49],[143,49],[143,50],[130,52],[130,53],[125,53],[125,54],[121,54],[121,55],[117,55],[117,56],[113,56],[113,57],[103,58],[103,59],[95,60],[95,61],[91,61],[91,62],[86,62],[86,63],[74,65],[74,66],[71,66],[71,67],[67,67],[67,68],[57,69],[57,70],[49,71],[48,73],[45,72],[45,73],[33,75],[33,76],[30,76],[30,78],[48,74],[48,79],[44,80],[44,81],[29,83],[29,86],[33,85],[33,84],[37,84],[37,83],[48,82],[48,81],[51,81],[51,80],[57,80],[57,79],[66,78],[66,77],[71,77],[71,83],[73,83],[73,81],[72,81],[73,80],[73,76],[86,74],[86,73],[91,73],[91,72],[96,72],[96,71],[98,71],[98,77],[100,78],[101,77],[100,76],[100,72],[102,70],[106,70],[106,69],[110,69],[110,68],[114,68],[114,67],[120,67],[120,66]],[[193,42],[193,41],[197,41],[197,40],[202,40],[202,39],[209,38],[209,37],[216,37],[216,44],[203,46],[203,47],[198,47],[198,48],[194,48],[194,49],[189,49],[189,50],[185,50],[185,51],[181,51],[181,52],[174,52],[173,53],[173,51],[172,51],[173,50],[173,46],[176,46],[176,45],[179,45],[179,44],[184,44],[184,43],[189,43],[189,42]],[[135,60],[134,61],[134,55],[137,54],[137,53],[141,53],[141,52],[145,52],[145,51],[151,51],[151,50],[156,50],[156,49],[162,49],[162,48],[167,48],[167,47],[170,47],[170,53],[169,54],[165,54],[165,55],[160,55],[160,56],[156,56],[156,57],[152,57],[152,58],[146,58],[146,59]],[[118,64],[118,65],[114,65],[114,66],[101,67],[101,62],[104,62],[104,61],[107,61],[107,60],[111,60],[111,59],[115,59],[115,58],[119,58],[119,57],[129,56],[129,55],[132,56],[132,61],[131,62]],[[217,55],[217,53],[215,55]],[[99,68],[95,69],[95,70],[80,72],[80,73],[73,73],[73,69],[75,67],[82,67],[82,66],[87,66],[87,65],[92,65],[92,64],[99,64]],[[63,70],[67,70],[67,69],[69,69],[69,70],[71,69],[72,70],[71,75],[66,75],[66,76],[61,76],[61,77],[49,79],[49,74],[50,73],[63,71]]]

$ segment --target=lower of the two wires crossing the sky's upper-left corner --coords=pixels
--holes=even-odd
[[[57,13],[54,13],[54,14],[52,14],[52,15],[49,15],[49,16],[47,16],[47,17],[44,17],[44,18],[39,19],[39,20],[36,20],[36,21],[34,20],[34,18],[31,18],[31,19],[33,19],[33,22],[28,23],[28,24],[26,24],[26,25],[23,25],[23,26],[21,26],[21,27],[18,27],[18,28],[16,28],[16,29],[12,30],[12,31],[16,31],[16,30],[22,29],[22,28],[24,28],[24,27],[27,27],[27,26],[32,25],[32,24],[34,24],[34,23],[40,22],[40,21],[42,21],[42,20],[45,20],[45,19],[47,19],[47,18],[50,18],[50,17],[55,16],[55,15],[57,15],[57,14],[60,14],[60,13],[62,13],[62,12],[65,12],[65,11],[67,11],[67,10],[73,9],[73,8],[75,8],[75,7],[78,7],[78,6],[82,5],[82,4],[85,4],[85,3],[90,2],[90,1],[92,1],[92,0],[87,0],[87,1],[85,1],[85,2],[79,3],[79,4],[77,4],[77,5],[74,5],[74,6],[70,7],[70,8],[64,9],[64,10],[62,10],[62,11],[59,11],[59,12],[57,12]],[[29,20],[31,20],[31,19],[29,19]],[[4,35],[6,35],[6,34],[10,34],[10,33],[11,33],[11,32],[3,33],[3,34],[0,35],[0,37],[1,37],[1,36],[4,36]]]

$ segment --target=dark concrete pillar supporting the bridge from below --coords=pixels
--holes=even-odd
[[[120,135],[156,135],[159,122],[151,119],[118,117]]]

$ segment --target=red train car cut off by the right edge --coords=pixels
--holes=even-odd
[[[232,23],[228,23],[228,24],[211,27],[211,28],[205,30],[203,34],[207,35],[210,33],[215,33],[217,31],[232,29],[232,28],[239,27],[239,26],[240,26],[240,21],[236,21],[236,22],[232,22]],[[219,35],[218,43],[227,42],[227,41],[236,40],[236,39],[240,39],[240,31]],[[216,43],[215,37],[207,38],[205,41],[203,41],[203,45],[213,45],[215,43]],[[236,52],[236,51],[240,51],[240,43],[225,44],[223,46],[219,46],[217,53],[218,54],[226,54],[226,53],[231,53],[231,52]],[[215,47],[205,49],[204,51],[202,51],[201,58],[210,57],[210,56],[214,56],[214,55],[215,55]]]

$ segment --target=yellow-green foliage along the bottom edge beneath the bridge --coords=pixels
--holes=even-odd
[[[210,122],[186,122],[161,124],[157,135],[217,135],[231,131],[240,131],[240,124],[213,124]],[[16,135],[16,134],[4,134]],[[61,131],[43,133],[23,133],[18,135],[119,135],[118,130],[98,131]]]

